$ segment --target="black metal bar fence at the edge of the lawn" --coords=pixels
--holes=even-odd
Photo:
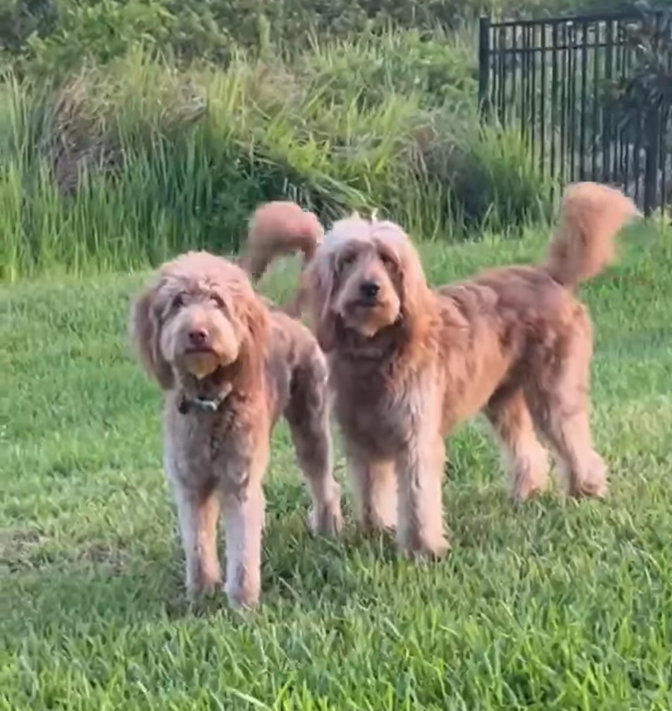
[[[636,70],[629,36],[641,17],[482,18],[479,99],[484,114],[519,130],[551,183],[618,185],[649,214],[672,202],[672,110],[659,102],[626,112],[613,96]],[[663,14],[647,21],[672,33]]]

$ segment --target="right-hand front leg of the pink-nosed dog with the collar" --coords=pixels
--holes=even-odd
[[[254,607],[261,592],[261,533],[267,454],[227,473],[222,504],[226,532],[226,592],[233,607]]]

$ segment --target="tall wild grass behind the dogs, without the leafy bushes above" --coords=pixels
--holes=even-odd
[[[226,70],[133,50],[60,84],[10,78],[3,277],[232,250],[251,210],[283,196],[327,223],[379,208],[429,238],[536,215],[521,146],[479,132],[470,36],[439,42],[386,33],[293,63],[236,53]]]

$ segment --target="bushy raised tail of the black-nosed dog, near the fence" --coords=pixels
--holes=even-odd
[[[619,230],[639,215],[632,200],[615,188],[597,183],[568,186],[560,225],[548,249],[548,273],[570,289],[600,274],[614,262]]]

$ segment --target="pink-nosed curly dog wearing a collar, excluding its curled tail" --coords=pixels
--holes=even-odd
[[[259,599],[269,437],[286,417],[320,533],[340,527],[332,476],[327,365],[314,336],[266,306],[235,264],[190,252],[164,264],[134,304],[132,329],[149,373],[166,390],[164,466],[175,493],[191,594],[221,579],[224,512],[229,601]]]

